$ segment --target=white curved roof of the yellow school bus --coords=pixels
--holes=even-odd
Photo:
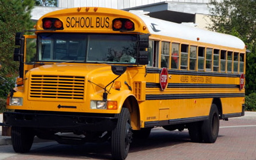
[[[195,42],[197,42],[197,38],[200,38],[199,42],[201,43],[221,45],[242,50],[245,48],[244,42],[233,35],[207,31],[197,27],[152,18],[147,15],[136,15],[145,22],[151,34],[165,35],[168,37],[180,38]]]

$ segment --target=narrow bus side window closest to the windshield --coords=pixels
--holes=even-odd
[[[158,67],[158,41],[149,40],[149,64],[151,67]]]

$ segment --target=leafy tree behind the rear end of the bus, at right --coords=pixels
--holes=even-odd
[[[213,25],[208,29],[235,35],[247,45],[246,94],[256,93],[256,1],[214,0],[210,6]]]

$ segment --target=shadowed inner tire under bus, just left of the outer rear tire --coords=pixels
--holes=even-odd
[[[201,122],[193,122],[188,125],[188,133],[192,142],[203,142],[201,126]]]

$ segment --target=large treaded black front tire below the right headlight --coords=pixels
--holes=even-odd
[[[111,154],[113,159],[126,159],[130,143],[132,143],[132,127],[130,123],[129,109],[122,108],[117,114],[118,122],[116,129],[111,133]]]

